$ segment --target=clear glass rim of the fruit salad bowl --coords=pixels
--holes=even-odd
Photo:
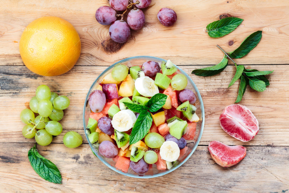
[[[125,58],[125,59],[122,59],[118,62],[115,62],[113,65],[110,65],[109,67],[107,67],[103,72],[101,72],[101,74],[98,75],[98,77],[95,79],[95,81],[92,83],[91,87],[89,88],[89,91],[88,93],[86,94],[86,97],[85,97],[85,102],[84,102],[84,106],[83,106],[83,116],[82,116],[82,119],[83,119],[83,127],[84,127],[84,131],[85,131],[85,109],[86,109],[86,103],[87,103],[87,100],[89,98],[89,93],[90,91],[92,90],[92,88],[94,87],[94,85],[97,83],[98,81],[98,78],[100,78],[101,76],[103,76],[107,71],[109,71],[111,68],[113,68],[115,65],[117,64],[122,64],[124,62],[127,62],[127,61],[130,61],[132,59],[149,59],[149,60],[161,60],[163,62],[166,62],[166,60],[164,59],[161,59],[161,58],[158,58],[158,57],[154,57],[154,56],[145,56],[145,55],[140,55],[140,56],[133,56],[133,57],[128,57],[128,58]],[[201,123],[201,127],[200,127],[200,132],[199,132],[199,136],[197,138],[197,141],[196,143],[194,144],[194,147],[192,148],[192,151],[191,153],[181,162],[179,163],[176,167],[174,167],[173,169],[170,169],[170,170],[166,170],[165,172],[161,172],[161,173],[157,173],[157,174],[154,174],[154,175],[144,175],[144,176],[138,176],[138,175],[135,175],[135,174],[129,174],[129,173],[126,173],[126,172],[123,172],[121,170],[118,170],[116,169],[115,167],[111,166],[109,163],[107,163],[105,160],[102,159],[102,157],[98,157],[98,153],[95,152],[93,149],[92,149],[92,144],[89,142],[89,139],[88,139],[88,136],[85,134],[85,137],[89,143],[89,146],[92,150],[92,152],[96,155],[96,157],[98,157],[98,159],[100,159],[102,161],[102,163],[104,163],[107,167],[109,167],[110,169],[112,169],[113,171],[115,172],[118,172],[124,176],[129,176],[129,177],[132,177],[132,178],[140,178],[140,179],[147,179],[147,178],[155,178],[155,177],[159,177],[159,176],[163,176],[163,175],[166,175],[168,174],[169,172],[172,172],[174,171],[175,169],[179,168],[180,166],[182,166],[183,163],[185,163],[190,157],[191,155],[194,153],[194,151],[196,150],[199,142],[200,142],[200,139],[202,137],[202,134],[203,134],[203,130],[204,130],[204,123],[205,123],[205,112],[204,112],[204,104],[203,104],[203,100],[202,100],[202,97],[200,95],[200,92],[197,88],[197,86],[195,85],[194,81],[189,77],[189,75],[183,71],[181,68],[179,68],[177,65],[176,67],[178,68],[179,71],[182,72],[182,74],[184,74],[186,76],[186,78],[188,79],[188,81],[190,81],[190,83],[193,85],[194,87],[194,90],[196,91],[197,93],[197,96],[198,96],[198,99],[200,101],[200,109],[201,109],[201,114],[202,114],[202,123]]]

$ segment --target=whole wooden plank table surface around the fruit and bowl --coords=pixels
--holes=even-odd
[[[98,7],[107,0],[2,1],[0,6],[0,191],[1,192],[287,192],[289,189],[289,6],[287,0],[181,0],[152,1],[144,10],[144,30],[133,31],[127,43],[108,39],[109,26],[95,20]],[[156,14],[162,7],[176,11],[178,20],[164,27]],[[232,33],[210,38],[205,27],[230,14],[244,19]],[[82,51],[76,66],[57,77],[43,77],[29,71],[19,53],[23,29],[41,16],[58,16],[79,33]],[[246,105],[259,121],[260,131],[249,142],[226,134],[219,126],[225,106],[235,102],[238,81],[228,84],[235,66],[219,75],[198,77],[196,68],[217,64],[223,57],[216,47],[232,51],[249,34],[262,30],[258,46],[238,64],[258,70],[275,70],[267,77],[270,86],[263,93],[247,89],[240,104]],[[232,40],[234,44],[228,45]],[[131,56],[151,55],[171,59],[184,69],[200,90],[205,107],[205,127],[194,154],[179,169],[154,179],[135,179],[112,171],[90,151],[82,125],[86,93],[107,66]],[[30,166],[28,150],[34,139],[21,130],[20,111],[29,107],[35,89],[46,84],[52,91],[69,96],[70,106],[61,120],[63,132],[40,154],[61,171],[62,184],[40,178]],[[82,135],[83,144],[69,149],[62,144],[67,131]],[[222,168],[210,157],[207,145],[218,140],[244,145],[246,157],[236,166]]]

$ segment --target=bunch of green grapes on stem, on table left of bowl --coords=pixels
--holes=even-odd
[[[35,141],[42,146],[50,144],[52,135],[62,132],[62,125],[58,121],[63,118],[63,110],[69,104],[67,96],[58,96],[46,85],[37,87],[36,96],[29,102],[31,110],[23,109],[20,113],[21,121],[26,124],[22,129],[23,136],[35,137]],[[34,113],[39,115],[35,117]]]

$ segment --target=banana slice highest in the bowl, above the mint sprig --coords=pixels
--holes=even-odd
[[[140,77],[135,80],[135,89],[142,96],[146,97],[152,97],[159,93],[159,89],[157,85],[154,84],[154,80],[147,76]]]

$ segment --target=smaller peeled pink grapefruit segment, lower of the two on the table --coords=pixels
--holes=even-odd
[[[234,166],[246,155],[246,148],[241,145],[228,146],[219,141],[211,141],[208,148],[213,160],[222,167]]]

